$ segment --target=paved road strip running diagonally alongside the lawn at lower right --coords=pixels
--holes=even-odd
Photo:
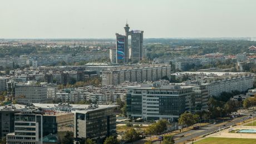
[[[232,126],[234,125],[234,123],[238,123],[238,122],[243,122],[245,120],[248,120],[249,118],[248,117],[241,117],[241,118],[237,118],[236,120],[233,120],[232,122],[228,122],[226,123],[225,125],[226,126]],[[214,126],[213,124],[212,125],[208,125],[209,127],[206,128],[205,131],[201,131],[201,132],[196,132],[196,133],[193,133],[192,135],[190,136],[186,136],[186,137],[183,137],[183,138],[180,138],[179,140],[175,140],[175,143],[179,143],[179,142],[184,142],[184,141],[187,141],[187,140],[191,140],[195,137],[198,137],[198,136],[201,136],[201,135],[205,135],[206,133],[209,133],[209,132],[213,132],[213,131],[216,131],[216,130],[219,130],[219,128],[224,128],[224,126]],[[196,131],[196,130],[195,130]],[[188,131],[189,133],[191,133],[190,131]],[[180,133],[179,135],[184,135],[182,133]],[[175,135],[176,136],[176,135]]]

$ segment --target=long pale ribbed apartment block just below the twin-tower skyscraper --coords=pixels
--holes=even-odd
[[[124,81],[138,83],[157,81],[164,76],[170,77],[170,72],[170,65],[111,69],[110,71],[102,71],[102,85],[119,85]]]

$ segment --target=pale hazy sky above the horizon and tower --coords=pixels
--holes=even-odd
[[[255,0],[1,0],[0,38],[256,37]]]

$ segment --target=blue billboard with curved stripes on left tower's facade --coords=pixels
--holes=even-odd
[[[116,54],[117,62],[124,62],[125,59],[125,36],[119,35],[116,37]]]

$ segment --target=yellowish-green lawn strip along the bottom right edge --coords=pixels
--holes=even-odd
[[[221,137],[208,137],[201,141],[194,142],[195,144],[253,144],[256,143],[256,139],[254,138],[221,138]]]

